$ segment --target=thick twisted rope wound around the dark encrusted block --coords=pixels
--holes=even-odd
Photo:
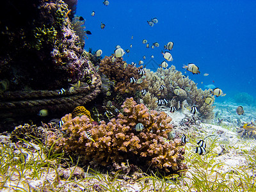
[[[35,115],[41,109],[49,109],[51,113],[68,111],[95,99],[100,93],[101,80],[99,74],[92,84],[76,88],[74,92],[59,95],[60,90],[37,90],[32,92],[4,92],[0,95],[0,118]]]

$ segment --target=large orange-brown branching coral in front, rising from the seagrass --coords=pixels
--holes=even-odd
[[[113,167],[115,163],[136,164],[143,170],[158,170],[161,173],[182,175],[186,165],[182,163],[184,148],[180,139],[166,140],[172,130],[170,118],[164,112],[149,111],[145,105],[136,104],[130,98],[122,105],[124,114],[112,118],[108,124],[91,124],[87,116],[72,118],[63,116],[63,136],[49,134],[48,143],[56,141],[56,150],[63,150],[70,156],[83,156],[91,166]],[[138,124],[143,125],[136,131]],[[92,140],[88,139],[88,133]],[[51,145],[51,144],[50,144]]]

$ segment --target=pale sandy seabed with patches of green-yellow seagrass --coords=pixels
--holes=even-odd
[[[46,189],[48,191],[166,191],[167,189],[204,191],[204,186],[207,185],[211,186],[211,189],[220,188],[220,186],[223,188],[227,185],[234,191],[254,190],[256,188],[253,183],[256,175],[256,140],[253,137],[250,138],[251,135],[246,132],[241,134],[239,130],[244,122],[255,121],[256,108],[243,106],[245,115],[239,116],[236,114],[237,104],[232,102],[214,104],[216,118],[207,123],[200,122],[200,118],[193,117],[187,109],[170,113],[168,108],[159,108],[173,118],[172,124],[176,136],[181,137],[185,134],[189,139],[185,145],[186,154],[184,155],[188,172],[182,179],[164,180],[152,175],[148,177],[143,175],[141,179],[136,180],[125,175],[111,177],[97,172],[92,174],[76,166],[59,168],[58,162],[56,160],[51,162],[38,145],[27,143],[19,148],[19,143],[10,144],[9,137],[2,135],[0,138],[1,191],[17,191],[17,189],[20,191],[28,191],[28,189],[32,191]],[[187,121],[184,122],[184,119]],[[194,124],[192,121],[186,124],[189,119],[193,119]],[[199,139],[205,140],[206,143],[206,153],[202,156],[195,153],[196,142]],[[40,166],[36,177],[33,167],[23,170],[17,164],[10,164],[9,168],[4,167],[2,162],[3,154],[6,153],[4,146],[8,143],[15,148],[15,154],[25,153],[28,156],[27,159],[34,159],[34,161],[37,159],[38,163],[47,161]],[[20,158],[19,156],[17,161],[21,161]],[[26,161],[23,164],[26,164]],[[20,173],[21,170],[22,173]]]

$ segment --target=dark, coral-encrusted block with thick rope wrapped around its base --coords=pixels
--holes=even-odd
[[[100,93],[100,76],[70,22],[76,1],[68,3],[4,1],[1,6],[6,13],[0,34],[1,119],[35,117],[41,109],[64,115]],[[84,86],[67,91],[80,81]]]

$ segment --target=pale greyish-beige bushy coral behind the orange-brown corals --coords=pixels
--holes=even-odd
[[[204,102],[205,98],[211,96],[211,90],[198,89],[196,83],[182,75],[182,72],[175,70],[172,65],[168,69],[157,68],[157,72],[152,72],[149,69],[145,70],[148,80],[147,91],[157,97],[157,99],[168,100],[169,106],[175,106],[180,109],[182,102],[186,100],[188,106],[197,106],[198,111],[202,117],[211,119],[214,117],[212,110],[214,106],[208,105]],[[164,86],[164,89],[161,89]],[[179,93],[175,94],[174,90],[178,88]],[[214,98],[212,98],[214,100]]]

